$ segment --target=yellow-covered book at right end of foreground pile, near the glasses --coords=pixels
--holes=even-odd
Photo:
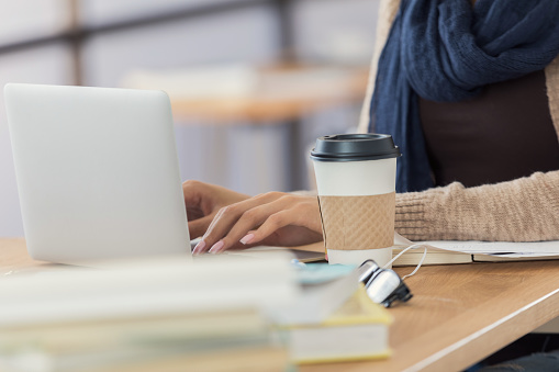
[[[289,357],[297,364],[382,359],[390,356],[390,313],[373,303],[364,285],[321,324],[292,324]]]

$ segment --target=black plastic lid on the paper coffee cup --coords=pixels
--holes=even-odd
[[[311,159],[316,161],[360,161],[400,157],[388,134],[335,134],[316,139]]]

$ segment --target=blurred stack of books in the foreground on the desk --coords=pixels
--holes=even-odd
[[[389,356],[391,317],[355,268],[301,272],[289,253],[264,256],[9,275],[0,371],[284,371]]]

